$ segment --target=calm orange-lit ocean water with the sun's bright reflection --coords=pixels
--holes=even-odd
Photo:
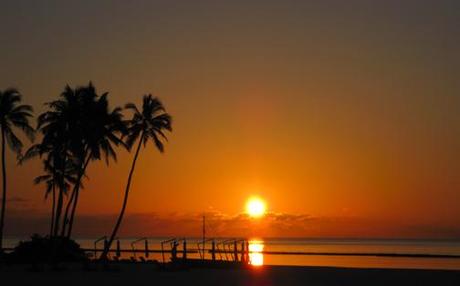
[[[5,247],[14,247],[18,241],[24,238],[7,238]],[[132,252],[145,250],[145,240],[135,242],[136,238],[120,239],[120,248],[130,250],[122,253],[123,258],[156,259],[163,260],[161,253]],[[149,250],[161,250],[162,241],[167,238],[147,238]],[[224,239],[218,239],[217,242]],[[80,238],[77,242],[88,254],[94,256],[93,238]],[[196,252],[200,239],[187,239],[187,254],[189,258],[201,257]],[[170,257],[170,244],[163,244],[165,251],[164,259]],[[225,250],[232,250],[230,244]],[[103,243],[96,245],[101,249]],[[240,247],[240,243],[238,243]],[[116,243],[113,244],[113,249]],[[182,242],[178,250],[182,249]],[[206,243],[206,249],[211,249],[211,243]],[[223,250],[222,244],[217,249]],[[455,269],[460,270],[460,258],[426,258],[426,257],[382,257],[382,256],[358,256],[352,254],[417,254],[417,255],[457,255],[460,256],[460,240],[362,240],[362,239],[251,239],[249,240],[249,259],[257,265],[295,265],[295,266],[335,266],[335,267],[359,267],[359,268],[418,268],[418,269]],[[195,251],[195,252],[194,252]],[[297,255],[273,254],[271,252],[296,252]],[[307,253],[333,253],[342,255],[301,255]],[[96,253],[97,255],[97,253]],[[181,256],[181,253],[178,255]],[[206,253],[205,258],[211,259],[211,254]],[[216,259],[232,259],[231,253],[217,253]]]

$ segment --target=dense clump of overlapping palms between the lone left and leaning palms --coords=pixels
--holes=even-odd
[[[59,99],[47,103],[49,110],[38,117],[37,129],[43,134],[42,142],[31,147],[24,159],[47,155],[52,162],[54,186],[58,187],[53,235],[71,236],[79,191],[91,160],[116,160],[113,146],[125,145],[121,136],[126,132],[121,108],[109,109],[108,93],[98,96],[94,85],[72,89],[66,86]],[[71,172],[70,174],[68,174]],[[65,184],[74,176],[71,184]],[[64,213],[64,195],[72,188]],[[62,216],[62,227],[60,221]]]

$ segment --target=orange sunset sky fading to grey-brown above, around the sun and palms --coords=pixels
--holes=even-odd
[[[206,213],[210,235],[460,238],[459,35],[456,0],[1,1],[0,90],[36,114],[90,80],[112,106],[162,99],[174,130],[122,235],[199,235]],[[89,167],[79,235],[115,221],[118,154]],[[46,232],[40,162],[8,156],[6,235]]]

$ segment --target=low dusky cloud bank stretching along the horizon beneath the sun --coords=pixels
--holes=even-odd
[[[200,237],[203,213],[126,214],[120,237]],[[252,219],[244,213],[206,212],[208,237],[310,237],[310,238],[459,238],[459,225],[419,225],[360,217],[328,217],[310,214],[267,213]],[[110,234],[117,214],[79,214],[75,235],[101,237]],[[46,234],[50,214],[34,209],[9,211],[8,235]]]

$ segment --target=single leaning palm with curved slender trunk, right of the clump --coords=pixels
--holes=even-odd
[[[127,122],[128,131],[126,135],[126,145],[129,149],[131,149],[136,141],[139,142],[137,144],[136,153],[134,154],[131,170],[128,175],[128,182],[126,184],[125,196],[123,199],[120,215],[118,216],[118,220],[112,231],[110,239],[101,255],[102,260],[107,259],[110,246],[115,236],[117,235],[121,221],[123,220],[126,205],[128,203],[131,179],[133,177],[141,146],[144,145],[145,147],[147,143],[152,140],[157,149],[160,152],[163,152],[164,146],[162,140],[167,140],[164,131],[172,131],[171,116],[166,113],[161,101],[156,97],[152,97],[151,94],[145,95],[143,97],[142,111],[139,111],[136,105],[133,103],[126,104],[126,109],[132,110],[134,112],[132,119]]]

